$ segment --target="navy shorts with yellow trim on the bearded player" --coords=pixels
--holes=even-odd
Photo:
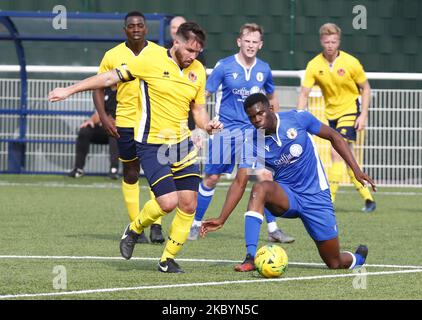
[[[198,152],[190,139],[176,145],[136,142],[136,152],[156,197],[178,190],[198,192]]]

